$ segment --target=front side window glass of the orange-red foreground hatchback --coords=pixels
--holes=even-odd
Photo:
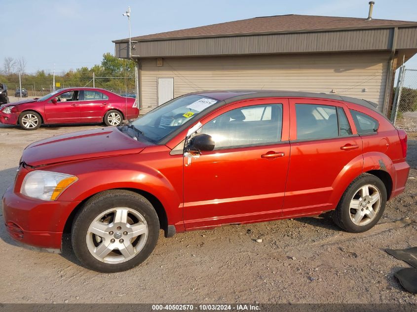
[[[282,104],[245,106],[209,121],[201,133],[210,135],[214,149],[267,145],[281,141]]]

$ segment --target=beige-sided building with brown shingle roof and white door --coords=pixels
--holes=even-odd
[[[394,73],[417,52],[417,23],[281,15],[115,40],[137,62],[142,113],[183,94],[266,89],[340,94],[389,112]]]

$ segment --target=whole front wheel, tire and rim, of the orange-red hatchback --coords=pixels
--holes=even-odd
[[[141,234],[135,237],[137,233]],[[152,253],[158,237],[159,219],[152,204],[126,190],[104,191],[90,198],[76,214],[71,232],[79,261],[104,273],[136,267]]]

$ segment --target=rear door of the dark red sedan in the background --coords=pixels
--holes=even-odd
[[[94,90],[81,90],[81,122],[102,122],[109,106],[109,97]]]

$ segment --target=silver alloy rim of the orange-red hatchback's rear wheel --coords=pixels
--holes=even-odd
[[[359,226],[370,223],[381,207],[381,194],[375,185],[366,184],[353,195],[349,205],[350,220]]]

